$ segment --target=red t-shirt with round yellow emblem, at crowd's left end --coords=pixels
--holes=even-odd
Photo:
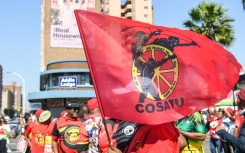
[[[25,134],[31,133],[31,152],[44,152],[45,136],[48,124],[31,123],[28,125]]]

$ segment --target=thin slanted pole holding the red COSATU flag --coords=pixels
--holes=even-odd
[[[78,23],[77,25],[78,25],[79,32],[80,32],[80,37],[81,37],[82,43],[83,43],[84,52],[85,52],[86,58],[89,59],[88,58],[89,55],[88,55],[88,52],[87,52],[87,45],[86,45],[86,41],[85,41],[84,34],[83,34],[83,29],[80,28],[80,26],[79,26],[79,25],[81,25],[81,23],[80,23],[80,20],[78,19],[79,18],[78,12],[79,12],[79,10],[74,10],[74,13],[75,13],[75,16],[76,16],[76,20],[77,20],[77,23]],[[97,90],[96,80],[94,79],[94,73],[93,73],[92,65],[91,65],[89,60],[87,60],[87,62],[88,62],[89,70],[91,72],[90,73],[91,74],[91,78],[92,78],[93,83],[94,83],[95,94],[96,94],[96,97],[97,97],[97,101],[99,103],[99,108],[100,108],[100,112],[101,112],[101,116],[102,116],[102,122],[103,122],[104,127],[105,127],[106,136],[107,136],[107,139],[108,139],[108,142],[109,142],[109,146],[111,146],[111,139],[110,139],[110,136],[109,136],[108,128],[106,126],[105,113],[104,113],[104,110],[103,110],[103,106],[102,106],[102,104],[100,102],[99,91]]]

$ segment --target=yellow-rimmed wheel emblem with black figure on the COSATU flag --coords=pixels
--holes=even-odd
[[[178,80],[178,60],[164,46],[146,45],[132,65],[133,82],[141,93],[139,102],[145,98],[164,100],[174,90]]]

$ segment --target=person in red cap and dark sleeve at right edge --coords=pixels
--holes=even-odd
[[[238,93],[238,106],[243,111],[240,113],[241,116],[245,115],[245,88],[242,88]],[[216,134],[221,137],[222,140],[225,140],[229,144],[232,144],[235,147],[235,153],[244,153],[245,152],[245,122],[243,121],[240,128],[238,137],[228,133],[224,127],[220,126],[216,129]]]

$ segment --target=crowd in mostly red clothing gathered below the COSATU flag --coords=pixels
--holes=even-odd
[[[195,112],[160,125],[102,118],[96,98],[83,107],[68,101],[59,118],[48,110],[37,110],[36,121],[21,121],[28,142],[26,152],[204,153],[207,135],[211,153],[245,152],[245,88],[237,97],[238,110],[212,106],[206,114]]]

